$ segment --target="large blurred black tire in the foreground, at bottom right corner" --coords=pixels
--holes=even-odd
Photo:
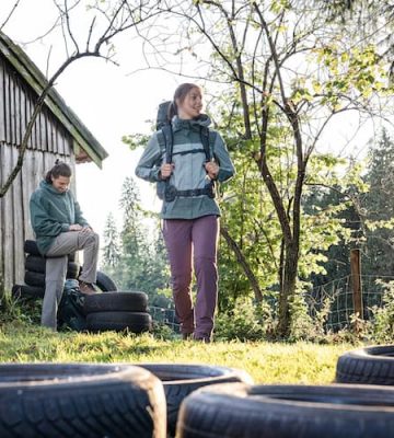
[[[386,438],[394,392],[358,385],[210,385],[181,405],[177,438]]]

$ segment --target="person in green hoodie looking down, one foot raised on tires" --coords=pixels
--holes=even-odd
[[[68,254],[83,250],[79,278],[82,293],[94,293],[99,258],[99,234],[83,218],[69,191],[71,168],[56,160],[30,200],[31,222],[38,251],[46,258],[42,325],[56,331],[68,264]]]

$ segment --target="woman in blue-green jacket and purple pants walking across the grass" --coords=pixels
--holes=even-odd
[[[153,134],[137,165],[137,176],[165,181],[161,217],[169,253],[175,312],[186,339],[210,342],[218,301],[217,250],[220,209],[213,182],[234,174],[225,145],[209,131],[209,157],[202,134],[210,119],[201,114],[202,95],[193,83],[179,85],[170,106],[171,162],[165,162],[162,131]],[[166,143],[169,140],[166,140]],[[164,141],[165,143],[165,141]],[[169,148],[169,145],[166,145]],[[171,147],[170,146],[170,147]],[[192,274],[197,278],[196,304],[192,299]]]

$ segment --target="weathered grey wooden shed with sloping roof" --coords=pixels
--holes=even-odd
[[[0,182],[4,183],[18,160],[37,96],[47,83],[28,56],[0,32]],[[16,180],[0,198],[0,296],[23,284],[24,241],[33,239],[28,200],[57,158],[73,169],[107,157],[104,148],[65,101],[51,89],[36,119],[24,164]],[[72,189],[76,189],[73,186]]]

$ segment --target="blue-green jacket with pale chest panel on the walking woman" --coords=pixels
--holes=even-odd
[[[210,119],[206,115],[190,120],[175,116],[172,120],[174,134],[172,158],[175,168],[170,184],[177,191],[204,188],[207,184],[208,176],[204,169],[206,155],[201,145],[200,127],[207,127],[209,124]],[[234,166],[219,132],[216,132],[211,155],[219,164],[217,180],[219,182],[229,180],[234,174]],[[136,168],[137,176],[152,183],[159,182],[159,172],[164,158],[165,151],[161,150],[158,132],[154,132]],[[220,209],[217,201],[207,195],[177,196],[172,201],[164,200],[161,211],[163,219],[197,219],[208,215],[220,216]]]

